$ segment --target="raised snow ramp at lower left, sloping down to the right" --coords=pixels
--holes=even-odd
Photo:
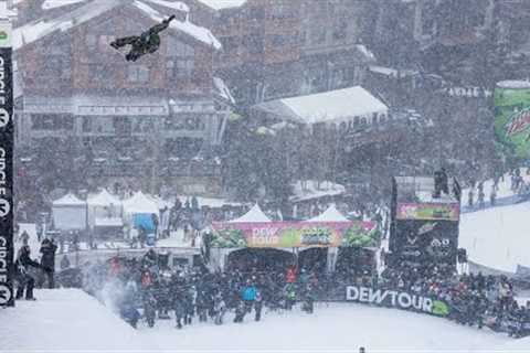
[[[38,290],[36,301],[0,309],[2,351],[73,352],[153,349],[96,299],[77,289]]]

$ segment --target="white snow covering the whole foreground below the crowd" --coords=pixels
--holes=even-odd
[[[268,313],[263,321],[197,323],[176,330],[173,320],[130,329],[78,290],[39,290],[36,302],[0,310],[2,349],[12,351],[460,351],[485,352],[511,339],[444,319],[354,303],[317,304],[312,315]],[[522,341],[521,341],[522,342]],[[523,343],[521,343],[523,344]],[[524,344],[523,344],[524,345]],[[530,346],[528,346],[530,349]]]

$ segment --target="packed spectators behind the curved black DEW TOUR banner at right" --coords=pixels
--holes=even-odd
[[[379,286],[442,300],[451,307],[448,318],[460,324],[487,325],[512,336],[530,334],[530,302],[519,306],[506,276],[457,275],[434,265],[403,267],[383,271]]]

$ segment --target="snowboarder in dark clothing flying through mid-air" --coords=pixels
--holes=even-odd
[[[119,50],[123,46],[130,44],[130,51],[125,58],[128,62],[136,62],[138,58],[146,54],[152,54],[160,47],[160,33],[169,26],[169,22],[174,20],[174,14],[169,19],[162,21],[162,23],[151,26],[149,30],[142,32],[140,35],[124,36],[112,42],[110,45]]]

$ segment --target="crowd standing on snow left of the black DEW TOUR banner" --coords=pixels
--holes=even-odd
[[[110,297],[112,304],[132,327],[141,317],[139,309],[148,323],[152,318],[146,313],[158,312],[159,319],[169,319],[172,311],[176,325],[181,329],[191,324],[194,317],[199,321],[211,318],[221,324],[229,310],[235,313],[234,322],[244,321],[253,311],[254,320],[259,321],[264,306],[271,310],[290,309],[296,300],[301,300],[304,309],[312,312],[315,300],[306,275],[298,281],[277,271],[255,269],[213,274],[204,268],[170,270],[167,255],[152,249],[141,259],[114,257],[92,266],[84,288],[96,297]],[[107,295],[102,297],[102,293]]]

